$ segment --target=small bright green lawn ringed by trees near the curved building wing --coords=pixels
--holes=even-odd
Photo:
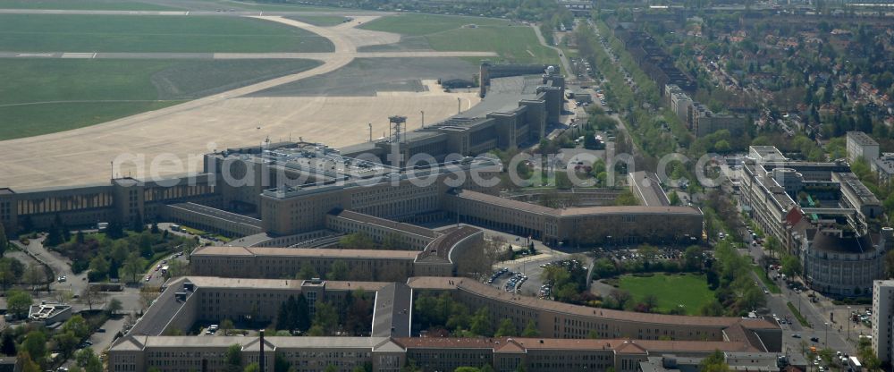
[[[623,275],[620,277],[620,289],[630,292],[636,301],[650,294],[655,295],[658,298],[657,309],[661,312],[683,305],[687,315],[697,315],[702,305],[714,300],[704,275]]]

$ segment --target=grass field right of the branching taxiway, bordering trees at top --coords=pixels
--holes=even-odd
[[[469,27],[475,25],[475,27]],[[510,63],[557,63],[555,51],[540,45],[526,25],[494,18],[401,14],[371,21],[363,29],[425,38],[434,50],[493,51]],[[480,58],[464,58],[477,63]]]

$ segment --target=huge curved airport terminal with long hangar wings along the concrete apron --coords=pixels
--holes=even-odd
[[[436,236],[407,226],[447,217],[551,245],[700,239],[701,211],[692,207],[555,209],[494,196],[504,165],[485,153],[543,139],[547,125],[560,121],[565,82],[544,65],[485,63],[482,74],[482,104],[417,131],[404,131],[406,118],[392,116],[389,137],[347,148],[267,141],[207,154],[198,174],[0,189],[0,224],[14,233],[170,221],[264,247],[323,247],[350,232],[381,241],[398,232],[409,248],[422,249]]]

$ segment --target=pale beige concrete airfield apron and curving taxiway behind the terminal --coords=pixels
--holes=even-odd
[[[187,16],[187,15],[182,15]],[[392,33],[359,30],[357,26],[377,16],[357,16],[350,23],[319,27],[280,16],[257,16],[299,27],[333,42],[334,53],[314,54],[323,64],[305,72],[266,80],[181,105],[136,114],[108,123],[42,136],[0,141],[0,187],[13,190],[73,186],[107,182],[110,165],[123,156],[142,156],[139,165],[118,161],[116,176],[149,176],[197,172],[201,155],[209,150],[302,139],[331,147],[356,144],[388,131],[388,116],[407,116],[407,130],[443,120],[477,105],[476,93],[445,93],[432,80],[423,80],[426,91],[380,91],[371,96],[255,97],[265,89],[335,72],[362,58],[448,58],[488,56],[480,52],[358,53],[358,47],[397,43]],[[434,78],[434,77],[433,77]],[[180,159],[181,166],[148,166],[164,155]],[[171,162],[165,165],[172,165]]]

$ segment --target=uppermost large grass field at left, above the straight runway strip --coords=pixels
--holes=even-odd
[[[331,52],[287,25],[241,17],[0,14],[0,50],[15,52]]]

